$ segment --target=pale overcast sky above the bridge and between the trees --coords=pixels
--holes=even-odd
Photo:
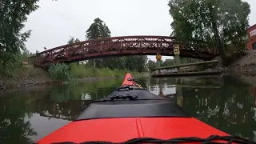
[[[86,30],[101,18],[111,36],[169,36],[172,18],[169,0],[41,0],[40,8],[30,14],[25,30],[32,30],[26,42],[28,50],[42,51],[65,45],[70,36],[85,40]],[[256,0],[249,2],[250,26],[256,24]],[[154,56],[150,57],[154,59]],[[164,58],[165,59],[165,58]]]

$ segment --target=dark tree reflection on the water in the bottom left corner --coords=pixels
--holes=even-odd
[[[0,141],[2,143],[32,143],[37,133],[27,118],[33,117],[32,107],[23,99],[0,100]]]

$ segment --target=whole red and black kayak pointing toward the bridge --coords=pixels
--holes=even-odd
[[[117,90],[90,103],[73,122],[37,143],[227,143],[230,140],[249,143],[191,117],[175,102],[150,93],[134,82],[131,74],[126,74]]]

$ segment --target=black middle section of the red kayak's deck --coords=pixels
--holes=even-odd
[[[110,101],[115,95],[137,95],[136,100]],[[148,90],[115,90],[99,101],[92,102],[82,110],[74,121],[98,118],[154,118],[154,117],[190,117],[178,106],[166,98],[150,93]]]

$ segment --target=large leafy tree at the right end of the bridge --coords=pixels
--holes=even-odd
[[[225,59],[223,45],[231,42],[245,47],[250,5],[242,0],[170,0],[171,26],[178,41],[195,50],[218,49]]]

